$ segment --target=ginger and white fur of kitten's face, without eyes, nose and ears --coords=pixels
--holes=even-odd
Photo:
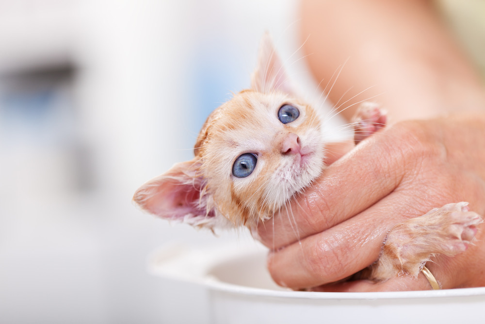
[[[283,124],[277,117],[283,104],[300,111]],[[282,93],[247,90],[214,111],[201,149],[203,172],[218,209],[236,224],[271,217],[295,193],[310,185],[323,169],[323,137],[316,112]],[[298,136],[301,154],[281,152],[289,134]],[[245,178],[232,175],[243,153],[258,156],[255,170]]]

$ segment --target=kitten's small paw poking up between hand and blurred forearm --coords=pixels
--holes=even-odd
[[[375,102],[362,102],[352,118],[356,144],[386,127],[386,111]]]

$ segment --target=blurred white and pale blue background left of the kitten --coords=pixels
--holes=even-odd
[[[248,235],[171,226],[131,196],[192,157],[264,31],[300,57],[293,2],[0,1],[0,323],[208,323],[205,291],[146,257]]]

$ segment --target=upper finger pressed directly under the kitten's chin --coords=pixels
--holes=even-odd
[[[339,224],[387,196],[419,160],[405,144],[403,137],[409,135],[396,133],[375,134],[330,165],[288,208],[259,223],[255,236],[278,249]],[[402,144],[392,144],[396,136]]]

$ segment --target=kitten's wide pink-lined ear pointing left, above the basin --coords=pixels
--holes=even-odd
[[[133,201],[161,218],[213,228],[215,212],[200,173],[197,158],[178,163],[138,188]]]

